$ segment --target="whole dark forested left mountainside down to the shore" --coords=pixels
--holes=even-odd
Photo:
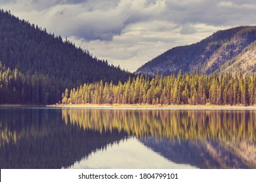
[[[56,103],[65,88],[118,83],[133,74],[93,57],[67,38],[0,10],[0,104]]]

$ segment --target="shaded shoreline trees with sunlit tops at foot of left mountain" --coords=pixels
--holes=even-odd
[[[10,70],[0,62],[0,104],[56,103],[61,87],[57,79]]]

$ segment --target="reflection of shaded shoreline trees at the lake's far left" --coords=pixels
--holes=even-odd
[[[0,147],[4,144],[16,144],[21,138],[35,140],[51,133],[51,129],[56,126],[61,110],[42,109],[9,109],[0,110]],[[49,116],[51,116],[49,118]]]

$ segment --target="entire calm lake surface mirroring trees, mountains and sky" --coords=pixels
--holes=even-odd
[[[256,168],[256,110],[0,107],[0,168]]]

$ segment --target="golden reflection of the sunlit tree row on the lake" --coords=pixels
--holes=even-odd
[[[63,120],[95,131],[125,131],[157,139],[255,141],[255,110],[64,109]]]

